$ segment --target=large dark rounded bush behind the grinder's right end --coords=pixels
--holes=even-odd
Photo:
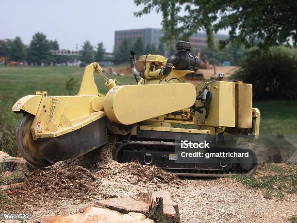
[[[252,84],[254,99],[297,98],[297,58],[289,49],[250,52],[232,78]]]

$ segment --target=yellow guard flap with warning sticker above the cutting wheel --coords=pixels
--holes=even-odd
[[[32,115],[36,115],[42,95],[27,95],[19,99],[12,107],[13,112],[24,110]]]

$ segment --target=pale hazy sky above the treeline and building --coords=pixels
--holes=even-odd
[[[3,0],[0,4],[0,39],[20,36],[29,44],[43,32],[57,39],[60,49],[79,49],[83,41],[114,46],[115,30],[161,28],[161,14],[134,17],[141,10],[133,0]]]

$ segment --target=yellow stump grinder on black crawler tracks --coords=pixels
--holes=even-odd
[[[12,111],[24,115],[16,131],[20,154],[30,164],[46,167],[86,154],[112,136],[118,162],[139,160],[181,176],[255,172],[255,152],[236,146],[237,140],[259,135],[252,86],[223,81],[219,74],[195,88],[185,75],[199,69],[200,60],[189,52],[188,42],[177,42],[176,49],[169,58],[139,56],[141,71],[131,52],[136,85],[122,86],[92,63],[84,70],[78,95],[41,91],[19,99]],[[94,71],[109,89],[106,95],[98,92]]]

